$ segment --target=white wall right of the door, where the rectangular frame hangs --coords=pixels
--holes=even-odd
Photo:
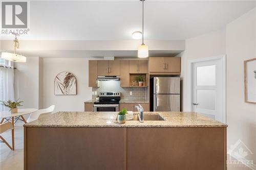
[[[226,26],[227,139],[241,139],[256,164],[256,104],[244,102],[244,60],[256,58],[256,9]],[[252,159],[252,158],[251,158]]]

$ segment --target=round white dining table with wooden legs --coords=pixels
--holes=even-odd
[[[29,109],[18,109],[17,113],[11,113],[10,111],[0,111],[0,119],[2,124],[3,122],[11,122],[13,125],[12,129],[12,150],[14,150],[14,124],[17,120],[22,120],[25,124],[27,123],[24,115],[31,114],[36,112],[37,109],[29,108]]]

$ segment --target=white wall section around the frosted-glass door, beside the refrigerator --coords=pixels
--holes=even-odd
[[[189,110],[188,61],[226,54],[225,29],[186,40],[186,50],[181,56],[182,110]]]

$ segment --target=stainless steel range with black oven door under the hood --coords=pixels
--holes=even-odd
[[[118,112],[120,92],[99,92],[99,100],[94,102],[93,111],[95,112]]]

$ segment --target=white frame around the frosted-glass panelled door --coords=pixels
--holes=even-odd
[[[192,74],[193,74],[193,67],[192,64],[201,61],[211,61],[211,60],[221,60],[223,63],[223,122],[226,123],[226,54],[214,57],[206,57],[202,59],[194,59],[188,61],[188,75],[189,75],[189,111],[192,111],[192,104],[193,101],[192,97]]]

